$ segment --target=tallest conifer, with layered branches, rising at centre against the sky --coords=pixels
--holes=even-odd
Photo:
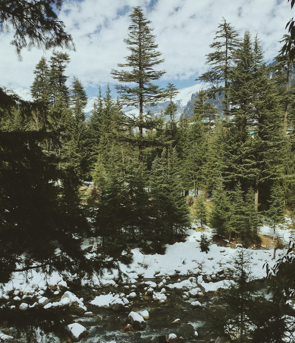
[[[144,138],[144,131],[157,127],[157,120],[144,114],[143,109],[145,104],[152,104],[165,97],[163,90],[152,83],[158,80],[164,71],[155,69],[163,60],[160,59],[161,54],[157,51],[158,45],[149,27],[150,21],[146,19],[140,7],[135,7],[130,17],[132,23],[129,26],[129,38],[124,39],[124,42],[131,54],[125,57],[126,63],[118,64],[118,67],[124,70],[112,70],[112,75],[114,79],[123,83],[116,86],[122,104],[139,106],[138,116],[125,117],[125,125],[138,130],[134,136],[134,143],[138,147],[138,161],[141,163],[143,150],[149,144]],[[126,85],[131,82],[135,82],[136,86]]]

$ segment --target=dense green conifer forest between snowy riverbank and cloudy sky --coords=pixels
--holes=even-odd
[[[286,215],[295,220],[294,38],[282,37],[268,65],[259,37],[223,19],[196,80],[212,86],[191,118],[178,118],[178,89],[157,85],[163,59],[150,21],[140,7],[130,21],[128,55],[110,71],[117,95],[99,89],[90,116],[79,79],[67,86],[68,52],[37,63],[33,102],[0,89],[2,284],[32,269],[120,274],[132,248],[164,254],[193,221],[249,248],[261,244],[261,225],[275,239]],[[161,113],[146,110],[163,99]],[[85,239],[99,242],[95,251]]]

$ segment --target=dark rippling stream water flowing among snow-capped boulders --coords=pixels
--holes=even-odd
[[[155,282],[158,282],[155,280]],[[172,280],[171,280],[172,282]],[[108,292],[124,292],[124,288],[104,288],[105,293]],[[143,288],[143,287],[142,287]],[[266,294],[266,285],[264,282],[258,281],[255,283],[255,288]],[[166,336],[170,333],[176,334],[184,339],[183,342],[215,342],[218,337],[218,332],[213,331],[212,323],[218,326],[218,308],[222,307],[220,303],[221,292],[208,292],[204,296],[197,299],[184,301],[182,294],[185,290],[171,290],[167,295],[165,304],[159,304],[158,301],[149,299],[134,300],[129,309],[123,312],[115,312],[109,309],[99,308],[94,305],[87,305],[88,310],[93,312],[93,317],[76,318],[76,322],[83,324],[88,330],[88,336],[82,339],[81,342],[87,343],[110,343],[110,342],[125,342],[125,343],[151,343],[159,342],[159,336]],[[139,294],[144,290],[140,286],[136,288],[136,293]],[[93,293],[83,294],[83,291],[77,296],[83,296],[84,302],[89,302],[93,298]],[[96,295],[96,294],[95,294]],[[201,307],[193,307],[192,301],[198,300],[202,304]],[[122,328],[128,323],[129,312],[148,310],[150,319],[146,321],[147,327],[144,330],[135,332],[122,332]],[[214,317],[214,316],[217,317]],[[179,318],[181,323],[172,323]],[[211,323],[211,326],[210,326]],[[195,335],[197,331],[198,336]]]

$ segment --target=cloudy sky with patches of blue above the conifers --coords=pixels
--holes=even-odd
[[[99,86],[104,90],[108,83],[114,89],[110,71],[120,69],[117,64],[129,55],[123,40],[136,6],[151,21],[164,59],[159,69],[166,73],[158,84],[165,87],[170,82],[179,89],[198,83],[195,79],[210,68],[206,54],[213,51],[209,45],[223,17],[241,37],[246,30],[253,37],[258,34],[265,60],[271,61],[287,33],[286,23],[295,16],[287,0],[64,0],[58,15],[76,46],[76,51],[67,51],[69,84],[75,76],[88,96],[96,96]],[[11,40],[12,32],[0,32],[0,85],[29,89],[36,64],[43,56],[49,60],[52,51],[23,49],[19,61]]]

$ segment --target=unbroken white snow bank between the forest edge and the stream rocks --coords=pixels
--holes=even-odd
[[[196,275],[198,283],[205,288],[205,291],[214,291],[219,287],[227,287],[223,281],[215,281],[214,276],[228,268],[232,268],[232,261],[236,255],[236,249],[233,247],[220,247],[216,244],[210,246],[208,253],[202,252],[200,249],[200,240],[202,232],[196,232],[195,229],[188,230],[188,237],[184,242],[168,245],[164,255],[144,255],[139,248],[133,249],[133,262],[130,265],[121,265],[124,280],[126,284],[132,284],[138,277],[152,280],[157,276],[172,276],[172,275]],[[211,232],[207,228],[205,233],[211,237]],[[261,234],[272,237],[273,229],[269,226],[262,226]],[[290,239],[291,231],[285,227],[276,229],[278,237],[282,237],[285,243]],[[271,250],[251,250],[251,272],[254,279],[262,279],[265,276],[263,264],[268,262],[270,266],[274,264],[273,249]],[[283,253],[282,250],[277,250],[276,257],[279,258]],[[105,287],[117,283],[117,273],[105,273],[101,279],[94,277],[92,286]],[[212,276],[212,282],[208,281],[207,277]],[[75,276],[68,276],[69,279],[75,279]],[[8,298],[8,295],[13,293],[15,296],[22,292],[27,296],[43,296],[47,287],[57,285],[55,292],[60,292],[67,288],[67,277],[53,273],[50,276],[45,276],[40,272],[32,271],[29,274],[29,279],[26,281],[22,273],[14,273],[12,280],[5,284],[0,290],[0,297]],[[88,280],[82,280],[82,285],[89,283]]]

